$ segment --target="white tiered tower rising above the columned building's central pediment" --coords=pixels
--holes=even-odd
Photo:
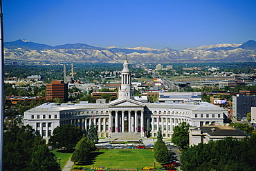
[[[131,87],[131,72],[129,70],[127,57],[125,59],[125,63],[123,64],[121,74],[122,83],[119,88],[118,99],[134,99],[134,90]]]

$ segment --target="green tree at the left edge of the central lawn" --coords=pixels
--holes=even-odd
[[[95,150],[95,144],[91,139],[82,138],[75,146],[71,161],[81,163],[88,159],[89,154]]]

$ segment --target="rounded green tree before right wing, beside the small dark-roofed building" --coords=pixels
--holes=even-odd
[[[176,127],[174,127],[174,133],[172,137],[172,143],[181,146],[181,148],[185,148],[189,144],[189,130],[190,125],[188,123],[179,123]]]

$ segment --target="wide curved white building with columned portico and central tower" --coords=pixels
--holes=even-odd
[[[122,84],[119,98],[110,103],[44,103],[24,113],[24,124],[32,125],[44,139],[54,128],[62,124],[75,124],[86,133],[93,121],[99,137],[139,139],[157,137],[159,129],[163,137],[172,137],[179,123],[193,126],[223,123],[228,111],[207,102],[196,103],[143,103],[134,99],[131,72],[127,59],[121,72]],[[93,119],[94,118],[94,119]]]

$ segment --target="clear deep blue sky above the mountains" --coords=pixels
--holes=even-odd
[[[256,41],[255,0],[2,0],[4,41],[174,50]]]

